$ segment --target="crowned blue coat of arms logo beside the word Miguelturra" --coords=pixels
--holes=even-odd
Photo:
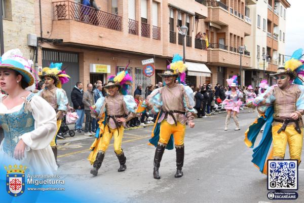
[[[7,192],[12,196],[20,196],[25,190],[25,174],[26,166],[9,165],[4,167],[7,171],[6,188]]]

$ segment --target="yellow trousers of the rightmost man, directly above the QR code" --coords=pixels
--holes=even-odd
[[[303,129],[298,133],[293,125],[288,125],[285,131],[278,133],[282,124],[272,127],[273,134],[273,156],[284,158],[286,145],[289,146],[290,159],[297,159],[298,163],[301,161],[301,151],[303,145]]]

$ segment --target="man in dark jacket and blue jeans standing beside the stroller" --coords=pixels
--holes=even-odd
[[[85,119],[85,110],[84,104],[82,102],[84,95],[83,84],[81,82],[77,82],[71,92],[71,100],[73,103],[73,108],[76,110],[78,115],[78,120],[75,123],[75,131],[81,132],[82,131],[82,124],[84,123]]]

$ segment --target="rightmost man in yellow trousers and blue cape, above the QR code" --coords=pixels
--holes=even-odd
[[[257,106],[261,116],[245,132],[245,144],[253,148],[260,128],[265,123],[262,139],[253,150],[252,162],[259,171],[267,174],[267,155],[273,142],[268,159],[284,159],[286,145],[289,146],[290,159],[301,161],[303,142],[304,86],[299,75],[304,75],[302,49],[296,50],[284,67],[276,74],[277,85],[269,87],[257,96],[249,107]]]

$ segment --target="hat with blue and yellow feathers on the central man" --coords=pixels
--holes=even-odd
[[[183,63],[182,57],[179,54],[173,56],[172,62],[167,66],[167,70],[163,74],[158,74],[161,77],[164,76],[176,76],[178,81],[185,84],[187,66]]]

